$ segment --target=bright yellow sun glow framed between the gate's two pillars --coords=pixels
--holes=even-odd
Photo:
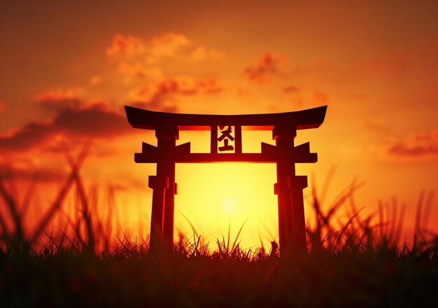
[[[214,249],[216,239],[235,239],[242,247],[278,240],[274,164],[177,164],[175,236],[192,235],[192,226]],[[243,226],[243,227],[242,227]]]

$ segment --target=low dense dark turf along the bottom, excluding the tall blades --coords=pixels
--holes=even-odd
[[[193,245],[193,243],[192,243]],[[196,245],[195,245],[196,246]],[[48,244],[0,255],[1,307],[437,307],[437,245],[345,244],[288,260],[259,251],[160,258],[125,241],[113,253]]]

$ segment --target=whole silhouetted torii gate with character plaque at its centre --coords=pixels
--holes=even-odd
[[[125,106],[134,128],[155,130],[157,146],[143,142],[135,162],[157,164],[157,175],[149,176],[153,189],[150,222],[150,251],[174,245],[175,164],[181,162],[271,162],[276,163],[278,235],[281,255],[306,251],[306,228],[302,190],[307,177],[295,175],[295,163],[317,162],[309,142],[294,146],[297,130],[317,128],[324,122],[327,106],[287,113],[248,115],[201,115],[164,113]],[[219,129],[219,130],[218,130]],[[271,130],[276,145],[261,143],[261,153],[242,153],[243,130]],[[191,153],[190,142],[176,146],[179,130],[209,130],[210,153]],[[220,136],[218,137],[218,132]]]

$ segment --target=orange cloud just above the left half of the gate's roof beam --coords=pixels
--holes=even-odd
[[[177,97],[198,94],[218,94],[222,86],[215,78],[166,78],[153,85],[139,87],[132,92],[134,105],[139,108],[176,112]]]

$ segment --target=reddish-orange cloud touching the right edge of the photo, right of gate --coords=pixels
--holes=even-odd
[[[403,141],[396,141],[388,154],[402,158],[438,158],[438,129],[430,134],[411,134]]]

